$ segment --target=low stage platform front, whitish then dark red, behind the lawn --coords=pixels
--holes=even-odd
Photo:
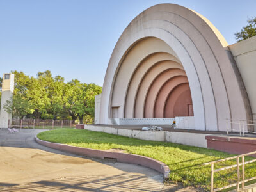
[[[240,136],[236,132],[198,131],[174,129],[170,125],[158,125],[164,131],[142,131],[147,125],[85,125],[92,131],[107,132],[141,140],[166,141],[196,147],[211,148],[232,154],[244,154],[256,150],[256,135]]]

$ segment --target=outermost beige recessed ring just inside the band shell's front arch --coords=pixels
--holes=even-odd
[[[157,47],[155,46],[156,44]],[[145,49],[145,47],[147,48]],[[130,49],[125,55],[122,65],[120,65],[118,72],[116,72],[115,83],[113,83],[111,107],[118,106],[118,115],[120,118],[124,117],[124,103],[126,97],[126,92],[124,90],[127,89],[128,84],[131,84],[130,78],[132,74],[136,68],[138,68],[139,63],[145,61],[145,59],[151,54],[157,54],[156,52],[166,52],[172,56],[172,58],[168,56],[170,60],[180,62],[175,56],[173,57],[175,52],[170,48],[170,46],[165,44],[163,41],[159,42],[157,38],[144,38],[137,42],[136,45],[134,45],[133,48]],[[152,61],[157,62],[157,57],[154,57]],[[150,67],[150,64],[147,66]]]

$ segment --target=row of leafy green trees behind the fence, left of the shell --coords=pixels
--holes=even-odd
[[[17,118],[79,118],[93,122],[94,97],[102,92],[96,84],[80,83],[77,79],[65,83],[61,76],[52,77],[49,70],[29,77],[24,72],[13,71],[15,89],[13,101],[4,109]],[[1,79],[0,79],[1,80]]]

